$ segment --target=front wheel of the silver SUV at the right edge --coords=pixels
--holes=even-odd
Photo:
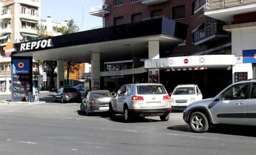
[[[209,128],[207,117],[202,112],[193,112],[189,117],[189,126],[193,132],[207,132]]]

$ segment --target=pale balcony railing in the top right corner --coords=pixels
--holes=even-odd
[[[206,0],[206,9],[237,6],[240,4],[255,3],[256,0]]]

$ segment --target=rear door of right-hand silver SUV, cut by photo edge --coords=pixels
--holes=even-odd
[[[251,84],[250,97],[245,104],[245,121],[247,125],[256,125],[256,83]]]

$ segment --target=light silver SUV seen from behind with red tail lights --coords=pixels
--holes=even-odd
[[[117,91],[116,98],[109,104],[111,119],[116,114],[124,114],[126,122],[134,115],[139,117],[160,116],[167,121],[171,112],[171,99],[161,84],[136,83],[123,85]]]

